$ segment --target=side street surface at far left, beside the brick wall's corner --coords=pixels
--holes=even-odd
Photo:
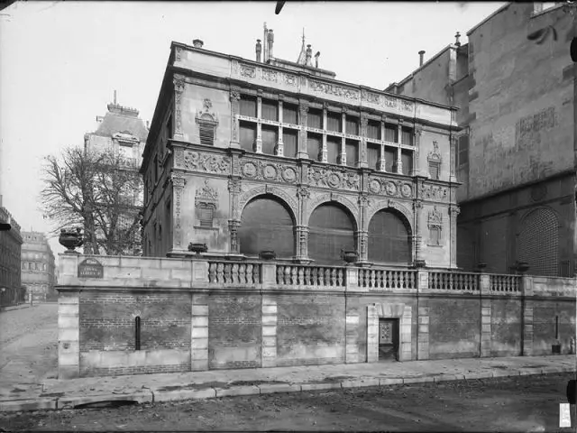
[[[56,378],[58,304],[0,312],[0,386]]]

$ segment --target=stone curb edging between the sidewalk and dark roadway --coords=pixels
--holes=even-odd
[[[5,411],[28,411],[28,410],[62,410],[75,409],[78,405],[98,403],[103,401],[135,401],[142,403],[156,403],[161,401],[187,401],[206,400],[220,397],[234,397],[239,395],[263,395],[270,393],[309,392],[346,388],[368,388],[371,386],[389,386],[412,383],[438,383],[455,381],[472,381],[479,379],[491,379],[499,377],[515,377],[536,374],[552,373],[575,373],[575,368],[570,366],[560,367],[523,367],[511,371],[493,371],[467,374],[439,374],[430,373],[420,376],[389,377],[389,378],[364,378],[347,380],[342,382],[303,382],[303,383],[262,383],[261,385],[241,385],[230,388],[207,387],[204,389],[190,390],[162,390],[142,389],[126,393],[100,393],[84,396],[69,396],[54,399],[30,399],[0,401],[0,412]],[[199,384],[198,386],[202,386]]]

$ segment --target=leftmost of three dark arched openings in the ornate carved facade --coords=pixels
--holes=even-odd
[[[248,203],[237,233],[242,254],[258,255],[263,250],[272,250],[279,258],[295,254],[293,218],[289,208],[274,196],[261,196]]]

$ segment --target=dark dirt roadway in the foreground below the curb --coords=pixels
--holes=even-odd
[[[571,373],[561,373],[5,412],[0,413],[0,427],[4,431],[575,431],[559,428],[559,403],[566,402],[570,378]]]

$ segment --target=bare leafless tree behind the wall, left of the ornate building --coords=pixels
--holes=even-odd
[[[41,210],[61,228],[84,228],[84,252],[139,255],[142,177],[116,152],[69,147],[42,167]]]

